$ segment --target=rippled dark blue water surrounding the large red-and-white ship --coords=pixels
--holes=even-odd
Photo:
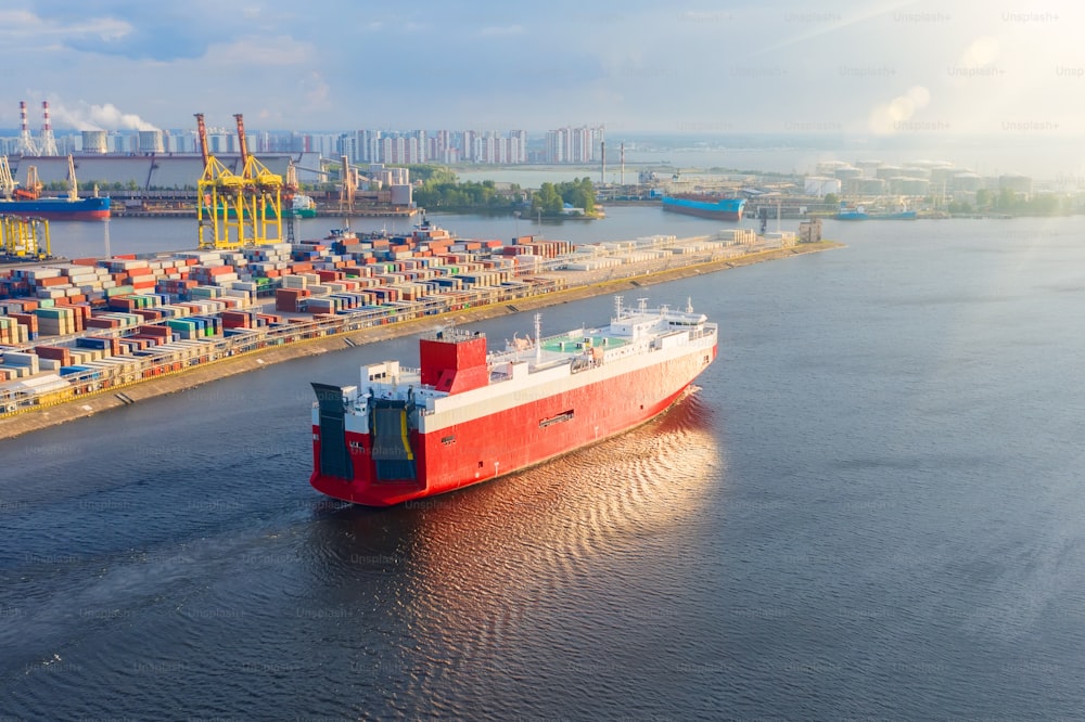
[[[308,382],[410,338],[0,442],[0,710],[1080,718],[1083,223],[835,223],[644,288],[720,322],[693,395],[413,507],[307,485]]]

